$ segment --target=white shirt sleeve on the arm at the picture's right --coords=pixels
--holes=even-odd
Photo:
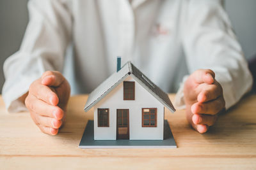
[[[189,1],[184,10],[182,45],[189,73],[212,69],[223,88],[226,108],[230,108],[252,87],[252,75],[227,13],[220,1]],[[180,88],[183,88],[184,81]],[[175,103],[182,107],[183,89]]]

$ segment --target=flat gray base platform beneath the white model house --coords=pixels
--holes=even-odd
[[[94,140],[93,120],[88,120],[79,148],[177,148],[167,120],[164,120],[164,140]]]

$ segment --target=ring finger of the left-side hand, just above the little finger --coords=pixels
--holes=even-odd
[[[36,122],[44,127],[52,127],[54,129],[58,129],[62,124],[61,120],[56,120],[55,118],[51,117],[42,117],[38,114],[35,114],[35,118]]]

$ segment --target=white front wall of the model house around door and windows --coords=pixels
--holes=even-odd
[[[124,81],[135,81],[128,76]],[[109,108],[109,127],[98,127],[98,108]],[[157,108],[157,127],[142,127],[141,108]],[[116,140],[116,109],[129,109],[130,140],[163,140],[164,106],[135,81],[135,100],[124,101],[123,83],[94,106],[94,139]]]

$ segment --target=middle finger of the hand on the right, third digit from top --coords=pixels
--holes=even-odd
[[[206,103],[195,103],[191,106],[191,112],[193,114],[209,114],[216,115],[225,107],[225,101],[223,97],[219,97],[214,101]]]

